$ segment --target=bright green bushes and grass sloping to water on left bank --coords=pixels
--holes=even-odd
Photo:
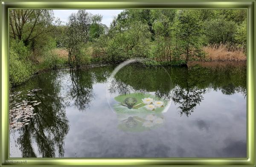
[[[63,56],[63,50],[60,54],[55,49],[46,50],[34,56],[36,52],[32,52],[22,41],[12,41],[9,51],[9,85],[10,87],[20,85],[29,80],[38,72],[61,69],[67,66],[67,58]]]

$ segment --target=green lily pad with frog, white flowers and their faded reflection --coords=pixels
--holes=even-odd
[[[161,112],[168,101],[151,94],[131,93],[114,98],[113,105],[119,119],[118,127],[123,131],[142,132],[159,127],[164,119]]]

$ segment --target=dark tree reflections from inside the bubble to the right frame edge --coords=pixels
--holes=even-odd
[[[246,97],[246,66],[226,66],[207,68],[199,65],[188,67],[145,68],[143,66],[125,66],[115,76],[110,92],[127,94],[131,92],[155,92],[166,100],[172,99],[178,105],[181,114],[187,116],[204,99],[207,88],[220,89],[223,94],[232,95],[241,92]]]

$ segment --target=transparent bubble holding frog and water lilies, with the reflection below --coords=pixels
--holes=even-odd
[[[171,77],[164,67],[146,67],[147,59],[134,58],[117,66],[108,78],[108,105],[117,114],[119,128],[143,131],[164,123],[171,105]],[[162,79],[161,79],[162,78]]]

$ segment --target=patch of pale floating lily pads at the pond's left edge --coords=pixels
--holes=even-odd
[[[41,89],[32,89],[27,94],[22,92],[14,92],[10,94],[10,110],[9,122],[10,130],[17,130],[29,124],[30,120],[36,115],[34,107],[41,102],[32,100],[35,99],[35,92]],[[22,98],[21,98],[22,97]],[[21,99],[26,99],[22,100]]]

